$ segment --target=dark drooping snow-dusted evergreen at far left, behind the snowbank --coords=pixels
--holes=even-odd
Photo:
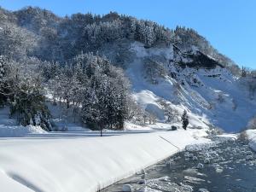
[[[10,114],[20,125],[39,125],[51,131],[50,113],[45,105],[43,88],[35,79],[18,79],[12,84]]]

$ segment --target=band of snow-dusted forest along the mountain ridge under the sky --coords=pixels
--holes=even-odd
[[[234,61],[219,54],[206,38],[185,27],[172,30],[150,20],[137,20],[115,12],[61,18],[48,10],[32,7],[15,12],[0,9],[0,16],[3,18],[0,20],[0,55],[30,55],[42,61],[65,63],[81,51],[96,53],[105,44],[126,39],[141,42],[145,47],[175,44],[183,51],[196,48],[230,68],[232,73],[241,72]]]

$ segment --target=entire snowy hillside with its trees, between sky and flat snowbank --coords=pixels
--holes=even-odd
[[[0,16],[0,80],[9,85],[0,86],[0,105],[9,105],[22,125],[46,131],[181,126],[186,110],[190,128],[236,132],[256,113],[254,76],[247,81],[193,29],[115,12],[62,18],[27,7],[0,9]],[[44,99],[49,92],[52,106]],[[24,95],[25,101],[15,99]]]

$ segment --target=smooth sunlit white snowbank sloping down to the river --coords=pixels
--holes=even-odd
[[[0,139],[3,191],[94,192],[177,153],[209,142],[200,130],[109,137]],[[49,134],[47,134],[49,135]]]

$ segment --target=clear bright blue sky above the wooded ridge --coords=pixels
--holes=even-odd
[[[38,6],[61,16],[117,11],[169,28],[187,26],[240,66],[256,68],[255,0],[0,0],[0,5],[9,10]]]

